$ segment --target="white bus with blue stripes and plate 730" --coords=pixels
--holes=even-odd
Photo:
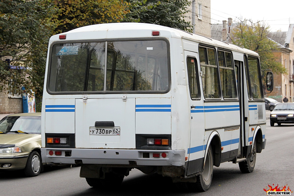
[[[92,187],[133,168],[206,191],[213,165],[252,172],[265,148],[257,53],[178,29],[97,24],[49,41],[42,159]],[[272,90],[267,73],[267,90]]]

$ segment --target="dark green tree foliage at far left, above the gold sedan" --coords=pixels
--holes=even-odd
[[[0,91],[42,93],[52,13],[41,0],[0,2]]]

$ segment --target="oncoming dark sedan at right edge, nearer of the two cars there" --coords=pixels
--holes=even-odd
[[[294,103],[279,103],[270,113],[270,126],[294,123]]]

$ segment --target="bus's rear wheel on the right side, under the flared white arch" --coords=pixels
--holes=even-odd
[[[196,176],[196,186],[195,188],[198,191],[207,191],[211,185],[212,181],[212,174],[213,174],[213,153],[212,148],[209,146],[206,160],[205,160],[205,166],[202,169],[201,175]]]

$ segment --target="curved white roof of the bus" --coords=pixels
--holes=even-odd
[[[197,41],[203,44],[208,44],[211,46],[217,46],[221,48],[227,48],[233,51],[239,51],[242,53],[251,54],[258,56],[258,53],[242,48],[240,46],[225,43],[223,41],[218,41],[205,36],[192,34],[180,29],[174,29],[166,26],[156,25],[156,24],[146,24],[146,23],[107,23],[107,24],[95,24],[89,26],[83,26],[65,33],[54,35],[51,37],[51,41],[57,41],[58,36],[62,34],[67,35],[67,40],[83,40],[83,39],[113,39],[113,38],[146,38],[153,37],[151,31],[160,31],[160,37],[175,37],[183,38],[188,40]],[[87,36],[85,32],[88,32]],[[72,36],[71,36],[72,35]],[[74,36],[75,35],[75,36]],[[78,36],[77,36],[78,35]],[[93,35],[93,38],[92,36]],[[78,37],[78,39],[77,39]],[[85,38],[83,38],[85,37]]]

